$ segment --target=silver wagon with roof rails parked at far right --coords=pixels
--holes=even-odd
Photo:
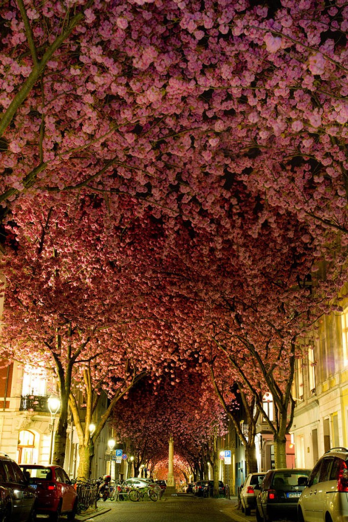
[[[332,448],[311,471],[298,501],[300,522],[348,520],[348,449]]]

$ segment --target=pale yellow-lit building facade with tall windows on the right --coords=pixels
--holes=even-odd
[[[348,307],[323,316],[295,375],[292,426],[296,465],[313,467],[331,447],[347,447]]]

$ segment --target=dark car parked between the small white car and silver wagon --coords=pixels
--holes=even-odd
[[[297,502],[310,469],[281,468],[267,471],[256,497],[257,522],[297,519]],[[256,485],[257,488],[257,485]]]

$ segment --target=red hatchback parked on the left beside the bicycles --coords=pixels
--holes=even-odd
[[[52,522],[62,514],[69,521],[74,520],[77,511],[76,480],[70,480],[60,466],[42,466],[40,464],[20,464],[31,487],[37,493],[36,511],[40,515],[49,515]]]

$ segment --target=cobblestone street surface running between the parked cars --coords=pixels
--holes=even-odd
[[[202,499],[191,495],[163,497],[158,502],[110,502],[100,512],[78,516],[76,522],[255,522],[237,510],[236,502],[227,499]],[[110,509],[107,513],[102,513]],[[63,519],[62,519],[63,522]]]

